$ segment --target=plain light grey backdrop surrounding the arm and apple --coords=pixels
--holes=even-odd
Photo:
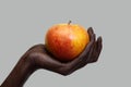
[[[103,36],[97,63],[69,76],[35,72],[24,87],[131,87],[130,0],[0,0],[0,84],[52,24],[93,26]]]

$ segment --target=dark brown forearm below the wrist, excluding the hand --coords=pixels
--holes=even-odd
[[[12,70],[1,87],[23,87],[26,79],[34,72],[27,59],[21,59]]]

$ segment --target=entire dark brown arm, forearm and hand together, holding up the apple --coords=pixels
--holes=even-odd
[[[87,29],[87,33],[90,34],[90,44],[76,59],[67,63],[56,60],[46,50],[45,45],[33,46],[23,54],[0,87],[23,87],[27,78],[38,69],[67,76],[88,63],[96,62],[103,48],[102,37],[96,40],[92,27]]]

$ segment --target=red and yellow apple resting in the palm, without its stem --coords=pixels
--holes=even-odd
[[[78,24],[57,24],[46,34],[47,50],[61,62],[74,60],[90,42],[86,29]]]

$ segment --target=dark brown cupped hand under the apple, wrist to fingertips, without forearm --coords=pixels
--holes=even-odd
[[[36,45],[32,47],[26,53],[31,59],[32,64],[36,69],[46,69],[62,75],[69,75],[74,71],[85,66],[87,63],[93,63],[98,60],[102,51],[102,37],[95,39],[95,34],[90,27],[87,29],[90,34],[90,44],[85,50],[73,61],[62,63],[56,60],[45,48],[45,45]]]

